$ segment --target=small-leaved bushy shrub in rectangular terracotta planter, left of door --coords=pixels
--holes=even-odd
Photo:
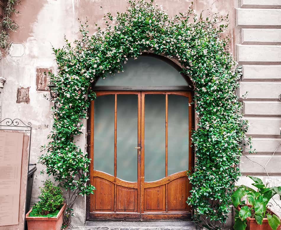
[[[28,230],[60,230],[66,206],[62,190],[50,179],[44,182],[40,190],[41,194],[38,196],[40,200],[25,216]]]

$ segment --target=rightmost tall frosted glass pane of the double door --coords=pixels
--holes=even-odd
[[[188,98],[168,95],[168,175],[188,170]]]

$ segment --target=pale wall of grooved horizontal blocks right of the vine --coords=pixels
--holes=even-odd
[[[240,171],[243,176],[238,184],[251,185],[246,175],[260,177],[270,186],[281,185],[281,1],[241,0],[235,1],[235,52],[237,61],[243,65],[240,96],[243,99],[244,118],[249,120],[247,135],[252,136],[257,154],[244,150]],[[274,150],[274,156],[265,166]],[[249,159],[248,159],[248,158]],[[255,162],[259,163],[255,163]],[[279,204],[279,197],[275,199]],[[279,215],[281,209],[270,201],[269,207]]]

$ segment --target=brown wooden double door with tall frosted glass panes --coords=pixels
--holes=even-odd
[[[91,220],[183,220],[191,92],[99,91],[91,102]]]

